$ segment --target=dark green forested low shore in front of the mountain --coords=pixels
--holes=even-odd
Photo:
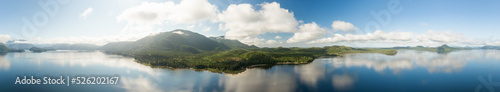
[[[227,51],[211,51],[200,54],[182,52],[164,52],[155,54],[128,55],[136,58],[137,62],[152,67],[208,69],[212,72],[238,73],[245,67],[259,64],[302,64],[309,63],[321,56],[341,56],[349,53],[387,53],[393,55],[397,51],[392,49],[350,49],[342,53],[333,53],[331,49],[350,48],[332,46],[324,48],[261,48],[236,49]]]

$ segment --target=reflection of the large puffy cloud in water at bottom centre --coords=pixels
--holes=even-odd
[[[286,72],[270,73],[264,69],[250,69],[238,75],[221,79],[226,92],[290,92],[295,89],[295,79]]]

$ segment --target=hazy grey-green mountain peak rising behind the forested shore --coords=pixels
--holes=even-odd
[[[100,49],[113,52],[175,52],[198,54],[204,51],[256,48],[237,40],[207,38],[188,30],[173,30],[147,36],[135,42],[113,42]]]

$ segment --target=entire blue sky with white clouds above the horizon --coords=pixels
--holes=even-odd
[[[135,41],[175,29],[259,47],[500,46],[499,0],[1,0],[0,42]]]

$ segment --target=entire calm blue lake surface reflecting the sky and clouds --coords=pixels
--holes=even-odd
[[[491,78],[489,77],[491,75]],[[23,76],[119,76],[116,85],[14,85]],[[483,80],[483,81],[481,81]],[[235,75],[150,68],[98,51],[0,56],[0,91],[500,91],[500,50],[350,54]]]

